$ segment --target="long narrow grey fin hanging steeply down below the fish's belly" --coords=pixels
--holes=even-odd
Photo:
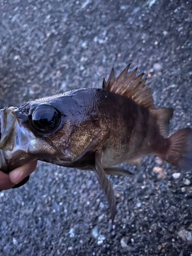
[[[101,151],[95,153],[95,173],[98,179],[98,182],[101,186],[101,189],[103,190],[104,196],[106,197],[106,200],[108,201],[110,210],[111,210],[111,218],[112,223],[114,221],[115,215],[116,215],[116,200],[113,188],[111,186],[110,181],[105,175],[104,169],[101,165]]]

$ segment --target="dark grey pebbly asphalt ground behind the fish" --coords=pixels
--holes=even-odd
[[[112,67],[118,74],[131,62],[151,71],[156,107],[174,107],[170,129],[192,127],[192,3],[149,5],[0,0],[1,108],[100,88]],[[110,177],[118,202],[112,226],[93,173],[39,162],[25,186],[0,193],[0,255],[192,255],[192,186],[184,184],[192,172],[174,179],[178,170],[163,163],[158,179],[153,157],[125,166],[139,176]]]

